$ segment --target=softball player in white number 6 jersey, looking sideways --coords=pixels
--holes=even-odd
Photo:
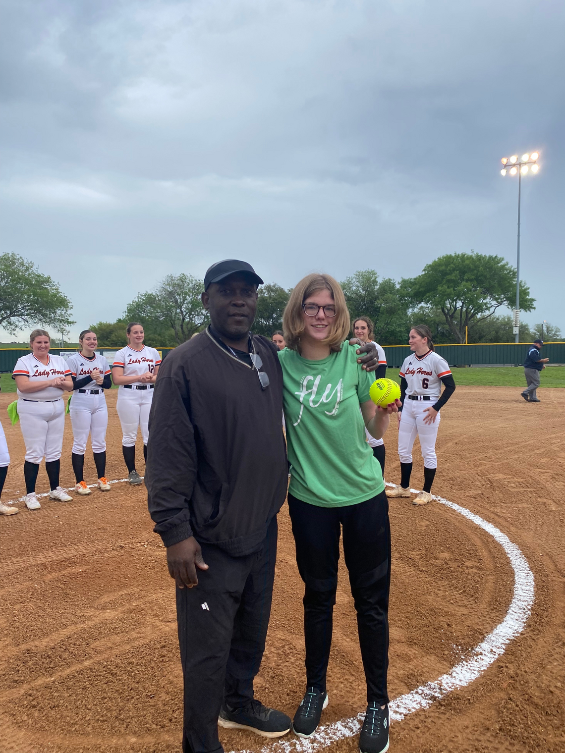
[[[412,472],[412,447],[420,438],[420,449],[424,462],[423,491],[414,499],[414,505],[427,505],[438,467],[435,455],[435,440],[441,416],[440,408],[447,403],[455,390],[454,378],[447,361],[433,349],[432,333],[426,326],[413,327],[408,339],[413,355],[405,358],[399,372],[402,400],[402,419],[399,411],[399,457],[400,486],[387,489],[389,497],[410,496],[410,475]],[[441,383],[444,392],[441,394]]]

